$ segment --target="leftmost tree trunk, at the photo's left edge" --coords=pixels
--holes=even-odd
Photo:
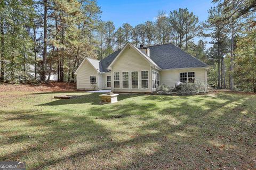
[[[2,4],[4,3],[4,1],[2,1]],[[4,18],[1,17],[0,19],[0,31],[1,31],[1,71],[0,71],[0,82],[4,81],[4,66],[5,66],[5,62],[4,62]]]

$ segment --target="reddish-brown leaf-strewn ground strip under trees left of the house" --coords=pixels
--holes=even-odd
[[[67,82],[49,82],[34,84],[0,84],[0,92],[40,92],[40,91],[74,91],[76,90],[75,83]]]

